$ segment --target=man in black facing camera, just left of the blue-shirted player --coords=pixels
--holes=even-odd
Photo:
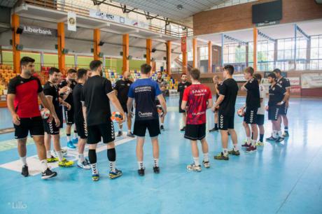
[[[132,133],[132,118],[130,117],[129,113],[127,112],[127,94],[129,92],[130,86],[132,85],[132,81],[130,80],[130,72],[125,71],[123,73],[123,78],[121,80],[118,80],[116,82],[116,86],[114,87],[114,91],[116,92],[118,96],[118,101],[120,101],[120,104],[124,110],[124,112],[127,114],[127,136],[134,137],[134,134]],[[123,124],[118,124],[120,127],[120,130],[118,131],[118,137],[123,136]]]

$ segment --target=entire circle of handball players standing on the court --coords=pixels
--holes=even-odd
[[[15,138],[18,139],[18,153],[22,161],[22,176],[29,176],[27,165],[27,136],[30,132],[36,144],[38,157],[41,162],[41,178],[48,179],[57,176],[55,171],[50,170],[48,162],[58,162],[58,166],[73,166],[73,162],[64,158],[60,145],[59,129],[62,128],[63,112],[66,120],[66,136],[68,148],[75,149],[78,145],[78,163],[80,169],[92,169],[92,180],[99,180],[97,169],[97,143],[102,141],[106,144],[107,157],[109,159],[109,178],[122,176],[122,171],[116,168],[115,131],[111,120],[110,101],[116,110],[122,115],[119,122],[120,131],[118,136],[123,136],[123,122],[127,119],[127,136],[137,136],[137,164],[139,176],[144,176],[143,147],[148,129],[153,145],[153,172],[160,173],[159,167],[159,144],[158,135],[164,129],[167,105],[165,94],[167,93],[167,82],[162,79],[162,73],[158,72],[158,80],[151,79],[151,66],[141,66],[141,79],[132,83],[130,73],[125,71],[123,79],[118,80],[116,86],[112,87],[111,81],[102,77],[102,62],[94,60],[90,63],[90,70],[70,69],[65,80],[62,80],[62,73],[57,68],[50,68],[49,80],[41,87],[40,80],[34,77],[34,59],[23,57],[20,61],[21,74],[10,80],[8,87],[8,109],[13,116],[15,127]],[[185,138],[191,141],[193,151],[193,164],[187,166],[190,171],[201,171],[197,141],[202,143],[204,153],[203,165],[209,168],[208,144],[206,136],[206,110],[212,108],[215,118],[214,129],[221,130],[223,152],[215,156],[215,159],[228,160],[228,154],[240,155],[237,145],[237,134],[234,129],[235,102],[239,90],[236,81],[232,78],[233,66],[225,66],[223,69],[223,82],[215,77],[217,99],[213,105],[211,90],[209,87],[200,84],[200,71],[192,69],[189,72],[192,83],[186,80],[188,76],[181,76],[178,91],[180,92],[179,112],[183,113],[185,126]],[[246,151],[256,150],[257,145],[263,145],[262,138],[264,129],[264,97],[260,85],[261,76],[258,73],[253,75],[253,69],[248,67],[245,70],[247,82],[241,87],[246,90],[246,108],[244,116],[244,127],[247,141],[243,147]],[[268,76],[269,83],[269,120],[272,120],[273,133],[267,140],[280,142],[281,116],[284,124],[287,122],[286,111],[288,107],[289,83],[281,78],[281,71],[274,70]],[[276,83],[277,81],[277,83]],[[281,85],[280,85],[281,83]],[[288,84],[288,85],[287,85]],[[261,93],[260,93],[261,92]],[[260,95],[262,94],[262,95]],[[42,119],[38,108],[38,98],[43,108],[50,110],[48,119]],[[134,131],[132,133],[133,105],[135,108]],[[157,105],[162,106],[162,115],[158,114]],[[62,110],[64,106],[64,110]],[[262,116],[260,116],[262,115]],[[159,122],[161,120],[161,125]],[[71,139],[71,126],[75,124],[74,136]],[[248,127],[251,124],[251,129]],[[258,138],[257,125],[260,127],[260,141]],[[287,125],[285,127],[287,132]],[[251,136],[251,132],[253,136]],[[232,138],[234,148],[228,151],[228,134]],[[78,141],[78,137],[80,138]],[[53,140],[55,156],[50,152],[50,142]],[[85,144],[89,145],[88,159],[85,159]]]

